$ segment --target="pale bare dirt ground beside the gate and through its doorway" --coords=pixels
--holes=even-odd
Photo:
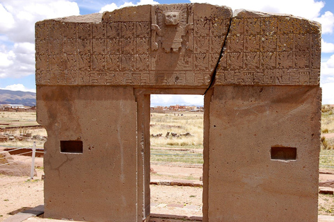
[[[0,174],[0,221],[3,221],[29,207],[43,204],[44,173],[42,158],[37,158],[37,176],[29,180],[28,176],[4,176]],[[151,166],[157,173],[152,173],[152,180],[189,180],[198,181],[202,176],[200,168]],[[321,169],[319,180],[334,180],[334,170]],[[178,187],[150,185],[151,213],[182,216],[202,216],[202,187]],[[319,214],[334,215],[334,196],[319,194]],[[37,219],[36,219],[37,220]]]

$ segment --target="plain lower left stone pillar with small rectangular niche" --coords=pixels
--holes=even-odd
[[[137,221],[137,113],[132,87],[37,90],[38,109],[43,110],[38,123],[48,132],[45,217]]]

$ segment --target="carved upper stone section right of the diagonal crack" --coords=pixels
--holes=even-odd
[[[321,26],[291,15],[234,12],[216,85],[319,85]]]

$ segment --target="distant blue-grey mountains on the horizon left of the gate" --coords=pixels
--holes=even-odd
[[[35,92],[22,92],[0,89],[0,104],[36,105]]]

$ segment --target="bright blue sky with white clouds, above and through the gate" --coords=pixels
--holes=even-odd
[[[322,24],[321,87],[323,103],[334,104],[333,0],[0,0],[0,89],[35,92],[34,24],[43,19],[86,15],[124,6],[157,3],[212,3],[261,12],[286,13]],[[151,105],[201,105],[202,96],[152,96]]]

